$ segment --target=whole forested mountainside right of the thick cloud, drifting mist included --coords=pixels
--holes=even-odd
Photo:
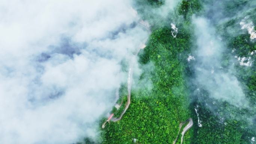
[[[173,143],[189,117],[194,125],[184,144],[255,143],[256,1],[182,0],[162,14],[168,3],[135,1],[151,31],[138,53],[143,72],[132,85],[129,109],[101,130],[100,143]],[[126,91],[124,84],[114,116],[124,108]]]

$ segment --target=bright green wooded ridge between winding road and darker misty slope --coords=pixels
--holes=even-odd
[[[150,73],[153,88],[150,93],[143,88],[132,91],[131,105],[122,120],[104,129],[103,144],[130,144],[132,138],[140,144],[173,143],[179,123],[190,117],[184,65],[179,61],[180,53],[189,48],[188,37],[178,34],[174,38],[168,27],[152,32],[139,61],[142,65],[154,63],[155,71]],[[191,135],[190,130],[184,144],[190,143]]]

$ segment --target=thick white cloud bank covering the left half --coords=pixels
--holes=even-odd
[[[129,0],[0,2],[0,143],[97,135],[148,33]]]

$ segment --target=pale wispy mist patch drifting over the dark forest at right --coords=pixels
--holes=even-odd
[[[246,108],[248,101],[237,78],[232,74],[230,65],[228,70],[222,67],[222,53],[226,48],[220,37],[215,33],[210,21],[203,17],[193,17],[198,49],[195,52],[195,80],[200,88],[209,92],[209,96],[230,104]]]

